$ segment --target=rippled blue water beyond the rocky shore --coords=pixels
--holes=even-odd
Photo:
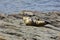
[[[60,11],[60,0],[0,0],[0,13],[18,13],[21,10]]]

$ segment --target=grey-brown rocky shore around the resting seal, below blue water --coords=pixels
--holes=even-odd
[[[27,26],[22,17],[49,22],[44,26]],[[0,40],[60,40],[60,12],[23,10],[18,14],[0,13]]]

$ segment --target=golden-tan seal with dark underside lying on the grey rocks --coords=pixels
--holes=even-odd
[[[44,25],[48,24],[47,21],[33,20],[30,17],[23,17],[23,20],[26,25],[30,25],[30,26],[44,26]]]

